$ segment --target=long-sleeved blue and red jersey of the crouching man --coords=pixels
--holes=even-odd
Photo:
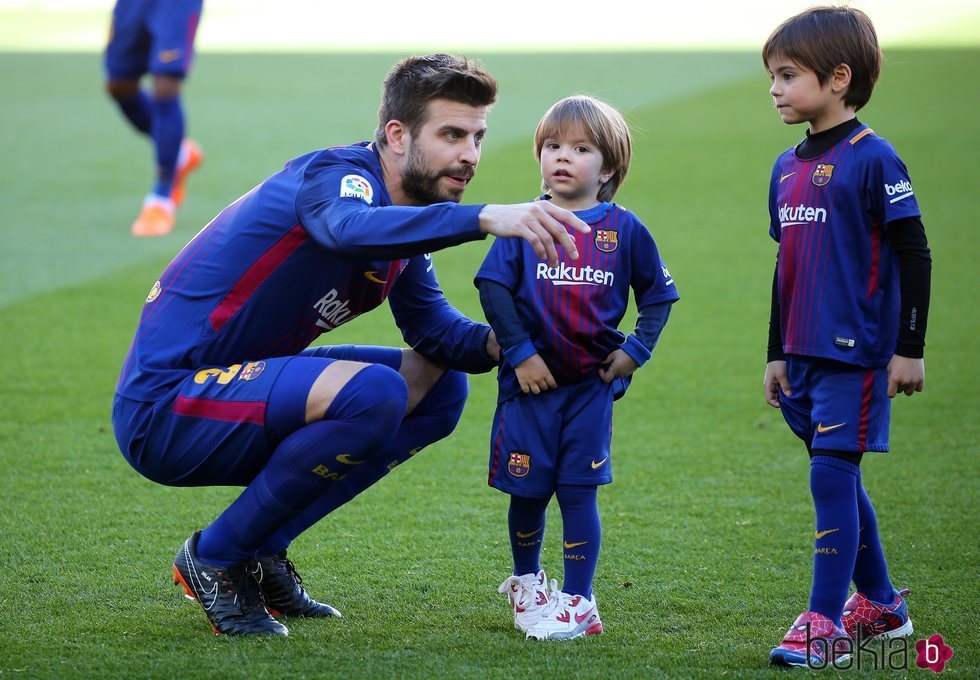
[[[489,327],[449,304],[428,255],[482,238],[482,207],[392,206],[366,143],[289,161],[221,211],[160,275],[116,391],[154,401],[190,371],[296,354],[386,299],[422,354],[490,370]]]

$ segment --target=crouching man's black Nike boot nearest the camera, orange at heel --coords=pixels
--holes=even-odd
[[[245,563],[229,567],[204,564],[197,557],[197,531],[174,559],[174,583],[196,600],[215,635],[288,635],[289,630],[269,615],[259,586]]]

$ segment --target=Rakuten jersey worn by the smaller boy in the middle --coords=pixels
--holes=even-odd
[[[579,259],[559,249],[557,267],[538,258],[520,239],[497,239],[476,280],[506,287],[531,342],[559,384],[592,376],[623,344],[618,330],[633,289],[637,307],[679,298],[657,244],[642,222],[615,203],[575,213],[592,227],[575,238]],[[520,392],[514,368],[502,361],[500,399]]]

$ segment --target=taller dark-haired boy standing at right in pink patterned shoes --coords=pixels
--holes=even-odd
[[[856,117],[881,65],[868,17],[808,10],[773,32],[762,58],[782,121],[809,126],[770,181],[779,253],[764,388],[806,444],[816,509],[809,609],[769,659],[822,666],[861,636],[912,633],[859,465],[888,451],[889,398],[924,386],[931,257],[904,163]]]

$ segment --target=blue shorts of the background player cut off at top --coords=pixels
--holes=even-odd
[[[144,73],[182,78],[194,59],[203,0],[118,0],[105,52],[110,80]]]

